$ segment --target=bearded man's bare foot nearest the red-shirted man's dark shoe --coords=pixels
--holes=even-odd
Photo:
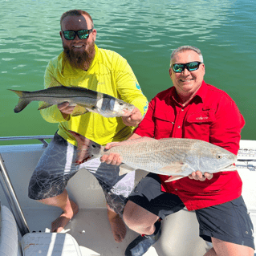
[[[116,213],[113,209],[109,207],[108,204],[107,204],[107,208],[108,208],[108,221],[110,223],[114,239],[116,242],[122,242],[126,235],[126,226],[124,224],[124,221],[122,220],[122,218],[118,213]]]

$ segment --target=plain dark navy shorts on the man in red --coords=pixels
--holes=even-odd
[[[162,219],[185,207],[180,197],[161,191],[160,178],[154,173],[149,173],[139,182],[128,200]],[[197,209],[195,213],[199,235],[205,241],[217,238],[255,250],[254,226],[242,196],[221,205]]]

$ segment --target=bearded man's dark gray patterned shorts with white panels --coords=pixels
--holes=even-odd
[[[75,165],[76,147],[57,133],[43,152],[28,188],[28,197],[41,200],[63,193],[67,181],[85,168],[99,181],[108,205],[122,214],[128,195],[132,192],[135,172],[119,176],[119,166],[101,163],[100,159]]]

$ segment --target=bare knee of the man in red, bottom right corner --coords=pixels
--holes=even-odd
[[[205,256],[254,256],[254,250],[247,246],[212,238],[213,248]],[[216,253],[217,252],[217,253]]]

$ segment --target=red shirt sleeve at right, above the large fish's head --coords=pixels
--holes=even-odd
[[[238,154],[241,130],[245,120],[233,100],[222,99],[211,124],[209,142]]]

